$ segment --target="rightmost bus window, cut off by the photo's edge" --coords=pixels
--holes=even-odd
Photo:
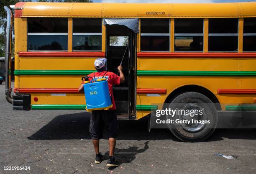
[[[243,51],[256,51],[256,18],[243,19]]]

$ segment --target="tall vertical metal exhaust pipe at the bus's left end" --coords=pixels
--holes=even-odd
[[[6,42],[5,42],[5,97],[9,103],[13,102],[11,97],[11,87],[10,87],[10,75],[11,75],[11,44],[12,44],[12,31],[13,31],[13,14],[7,6],[4,7],[7,20],[6,20]]]

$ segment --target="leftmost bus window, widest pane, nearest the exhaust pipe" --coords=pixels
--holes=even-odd
[[[27,18],[28,51],[67,51],[67,18]]]

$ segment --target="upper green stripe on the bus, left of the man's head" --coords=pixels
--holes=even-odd
[[[95,70],[15,70],[14,75],[88,75]]]

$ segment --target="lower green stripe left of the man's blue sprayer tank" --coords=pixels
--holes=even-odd
[[[85,110],[86,105],[32,105],[33,110]]]

